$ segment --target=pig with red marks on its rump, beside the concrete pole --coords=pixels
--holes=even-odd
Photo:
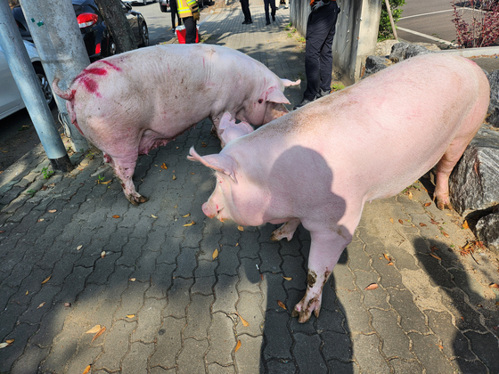
[[[227,113],[260,126],[288,112],[287,85],[244,53],[217,45],[157,45],[96,61],[62,91],[71,122],[114,168],[127,199],[147,199],[132,180],[138,155],[164,145],[211,118]],[[229,121],[227,121],[229,123]]]

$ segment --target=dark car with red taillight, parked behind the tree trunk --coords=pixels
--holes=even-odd
[[[117,53],[117,45],[110,36],[102,14],[94,0],[71,0],[75,10],[78,26],[81,30],[86,52],[91,60],[112,56]],[[121,2],[123,12],[135,34],[138,47],[149,45],[149,30],[143,15],[132,10],[132,5]],[[12,9],[12,14],[20,29],[20,36],[30,42],[33,41],[29,33],[28,24],[20,6]]]

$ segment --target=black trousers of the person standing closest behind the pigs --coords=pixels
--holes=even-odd
[[[319,88],[331,91],[332,39],[338,12],[338,4],[331,0],[308,16],[305,45],[307,90],[303,93],[304,99],[314,100]]]

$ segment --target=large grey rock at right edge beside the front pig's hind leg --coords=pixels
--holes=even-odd
[[[482,126],[449,180],[451,202],[460,215],[499,205],[499,132]]]

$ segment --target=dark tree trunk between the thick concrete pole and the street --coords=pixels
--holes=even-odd
[[[110,35],[118,46],[118,53],[133,51],[137,48],[134,31],[125,16],[119,0],[95,0],[106,22]]]

